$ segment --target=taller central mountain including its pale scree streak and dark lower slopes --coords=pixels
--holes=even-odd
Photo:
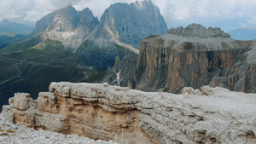
[[[78,52],[86,63],[106,69],[113,66],[116,55],[123,58],[125,49],[138,54],[144,37],[166,31],[166,22],[151,1],[114,3],[102,14],[99,26],[85,38]]]

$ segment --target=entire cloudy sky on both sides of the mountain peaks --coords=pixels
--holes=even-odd
[[[142,1],[142,0],[138,0]],[[35,23],[44,15],[72,4],[77,10],[90,8],[98,19],[112,3],[135,0],[0,0],[0,20]],[[152,0],[160,8],[168,28],[220,27],[224,32],[246,27],[256,29],[256,0]]]

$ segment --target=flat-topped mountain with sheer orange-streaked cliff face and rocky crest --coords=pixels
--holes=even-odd
[[[183,32],[190,34],[185,37]],[[255,41],[236,41],[216,28],[192,24],[185,29],[170,29],[163,36],[143,39],[135,87],[177,93],[185,86],[210,84],[256,92],[255,65],[250,62],[253,49]]]

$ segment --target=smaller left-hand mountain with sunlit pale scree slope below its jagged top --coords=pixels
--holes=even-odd
[[[98,24],[98,19],[93,16],[90,9],[78,12],[69,5],[38,20],[32,35],[46,32],[50,38],[75,51],[82,44],[84,37],[87,37]]]

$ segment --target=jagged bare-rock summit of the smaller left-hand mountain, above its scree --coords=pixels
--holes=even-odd
[[[91,10],[86,8],[82,11],[77,11],[72,5],[68,5],[64,9],[55,10],[47,14],[41,20],[38,20],[34,32],[38,34],[41,32],[73,32],[79,26],[89,32],[99,24],[99,20],[94,17]]]

